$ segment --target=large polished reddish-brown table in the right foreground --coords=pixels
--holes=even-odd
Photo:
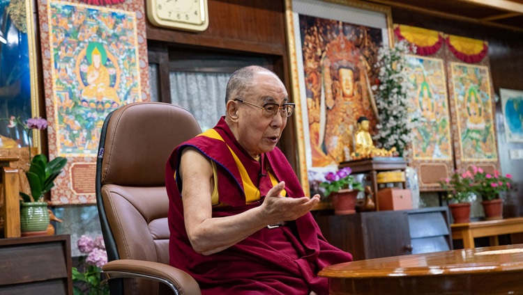
[[[347,262],[319,276],[329,294],[522,294],[523,244]]]

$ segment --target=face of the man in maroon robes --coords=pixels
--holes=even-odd
[[[287,90],[283,83],[272,72],[259,71],[255,77],[256,84],[252,94],[242,97],[245,101],[263,106],[266,103],[282,105],[287,102]],[[271,118],[263,115],[263,111],[255,106],[236,102],[238,105],[237,138],[245,150],[252,156],[270,152],[281,138],[287,125],[287,118],[280,111]]]

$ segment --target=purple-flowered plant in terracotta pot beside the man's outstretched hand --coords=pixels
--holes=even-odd
[[[354,180],[349,167],[342,168],[336,173],[329,172],[325,175],[325,181],[320,186],[325,188],[324,195],[331,199],[334,214],[356,213],[356,199],[358,193],[363,191],[360,182]]]

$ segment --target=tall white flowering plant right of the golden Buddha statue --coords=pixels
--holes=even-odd
[[[411,52],[414,51],[414,52]],[[408,155],[408,145],[414,140],[412,130],[419,122],[411,97],[415,96],[414,85],[409,82],[404,70],[406,54],[415,53],[416,47],[406,40],[396,42],[394,47],[381,47],[378,51],[379,85],[372,86],[378,109],[378,132],[374,139],[380,148],[395,147],[400,156]]]

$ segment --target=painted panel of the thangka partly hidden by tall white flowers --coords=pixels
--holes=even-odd
[[[408,56],[409,79],[416,88],[411,97],[420,112],[420,126],[412,143],[415,160],[452,160],[452,138],[444,61]]]

